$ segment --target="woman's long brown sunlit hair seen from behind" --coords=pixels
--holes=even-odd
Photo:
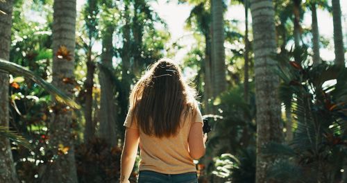
[[[171,137],[189,111],[195,116],[196,92],[183,80],[178,64],[168,58],[155,62],[130,94],[133,121],[148,135]]]

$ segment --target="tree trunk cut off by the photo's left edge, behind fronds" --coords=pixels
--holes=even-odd
[[[0,10],[6,15],[0,14],[0,58],[10,60],[11,26],[12,26],[13,0],[0,2]],[[0,69],[0,125],[8,127],[9,94],[8,73]],[[17,183],[17,173],[13,162],[10,141],[6,137],[0,137],[0,182]]]

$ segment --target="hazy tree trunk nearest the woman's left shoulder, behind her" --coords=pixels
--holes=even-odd
[[[106,26],[102,34],[103,53],[101,54],[101,69],[99,81],[101,85],[100,107],[100,137],[108,141],[110,146],[117,145],[117,106],[115,105],[115,85],[111,80],[112,74],[112,35],[115,28]]]

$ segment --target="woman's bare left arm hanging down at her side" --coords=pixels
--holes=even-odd
[[[129,182],[131,171],[135,164],[137,148],[139,146],[139,130],[126,128],[123,152],[121,153],[121,179],[120,182]]]

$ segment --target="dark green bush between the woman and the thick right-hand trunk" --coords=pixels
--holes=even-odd
[[[217,98],[220,103],[217,109],[223,119],[214,121],[213,131],[210,135],[209,147],[213,147],[214,153],[237,153],[237,150],[254,144],[255,139],[255,98],[251,92],[251,103],[244,101],[243,87],[237,86],[224,92]],[[230,135],[231,134],[231,135]]]

